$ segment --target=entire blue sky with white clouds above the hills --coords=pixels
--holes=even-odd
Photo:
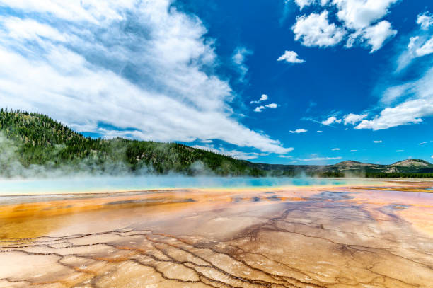
[[[253,162],[433,162],[433,4],[0,0],[0,106]]]

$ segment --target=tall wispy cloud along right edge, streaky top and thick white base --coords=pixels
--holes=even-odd
[[[420,28],[408,36],[408,46],[396,57],[397,69],[387,79],[396,84],[379,89],[382,91],[377,108],[380,112],[363,119],[355,129],[381,130],[419,124],[425,117],[433,116],[433,26],[428,24],[428,12],[418,15],[417,22]],[[422,63],[415,61],[419,57],[423,57]],[[405,67],[409,65],[418,65],[420,76],[401,83],[402,76],[408,77]]]

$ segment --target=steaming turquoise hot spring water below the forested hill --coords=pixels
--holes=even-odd
[[[180,176],[56,178],[0,180],[0,195],[118,192],[173,188],[269,188],[306,185],[357,185],[365,183],[371,183],[371,181],[332,178],[218,178]]]

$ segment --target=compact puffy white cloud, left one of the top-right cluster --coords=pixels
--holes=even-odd
[[[337,45],[346,33],[344,29],[328,22],[328,11],[297,17],[291,29],[295,34],[295,40],[301,41],[302,45],[308,47]]]

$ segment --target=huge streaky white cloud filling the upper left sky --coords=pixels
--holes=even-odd
[[[0,103],[79,132],[192,142],[221,139],[284,154],[241,125],[213,40],[169,0],[0,0]],[[100,123],[105,130],[100,130]],[[112,129],[107,127],[113,127]]]

